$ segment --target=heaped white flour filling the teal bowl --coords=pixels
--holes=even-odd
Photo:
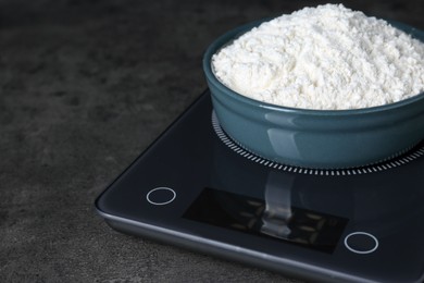
[[[212,58],[230,89],[273,104],[321,110],[396,102],[424,90],[424,44],[341,4],[263,23]]]

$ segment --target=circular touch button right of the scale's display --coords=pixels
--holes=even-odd
[[[353,232],[345,237],[345,246],[356,254],[371,254],[378,248],[378,239],[366,232]]]

